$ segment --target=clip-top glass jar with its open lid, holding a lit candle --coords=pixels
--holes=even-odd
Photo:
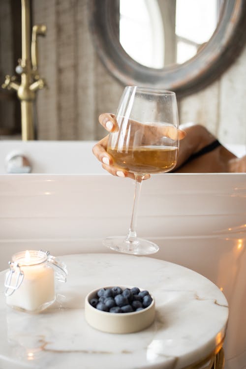
[[[56,299],[55,279],[65,282],[66,276],[65,265],[49,251],[18,252],[5,276],[6,304],[23,311],[42,311]]]

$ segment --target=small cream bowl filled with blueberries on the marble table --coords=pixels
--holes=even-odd
[[[138,287],[102,287],[85,299],[87,323],[102,332],[139,332],[153,323],[154,314],[153,297]]]

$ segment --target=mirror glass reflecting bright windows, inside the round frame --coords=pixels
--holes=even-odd
[[[184,63],[209,41],[223,0],[120,0],[120,43],[152,68]]]

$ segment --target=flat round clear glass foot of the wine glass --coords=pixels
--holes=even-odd
[[[111,248],[111,250],[133,255],[155,254],[159,250],[159,246],[155,245],[154,242],[141,238],[131,242],[126,240],[124,236],[112,236],[105,238],[102,243],[104,246]]]

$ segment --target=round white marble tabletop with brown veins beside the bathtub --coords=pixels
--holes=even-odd
[[[196,368],[211,368],[205,362],[222,346],[228,304],[210,280],[150,257],[104,253],[60,259],[67,265],[67,282],[59,283],[56,302],[36,315],[5,305],[0,273],[1,369],[181,369],[197,363]],[[85,296],[105,285],[149,290],[156,304],[154,323],[123,335],[90,327]]]

